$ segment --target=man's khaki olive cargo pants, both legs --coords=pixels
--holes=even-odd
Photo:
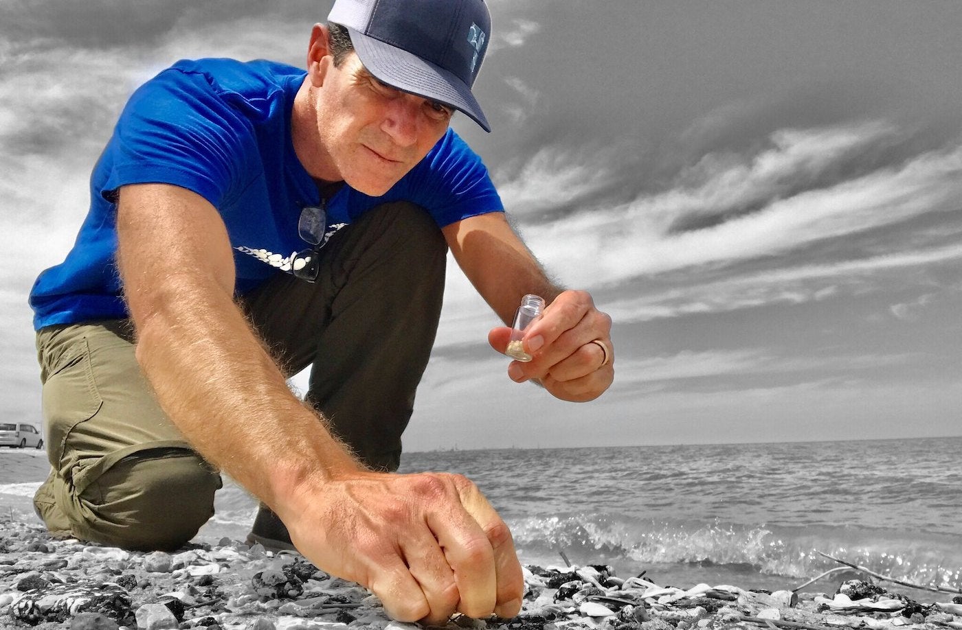
[[[421,208],[387,204],[322,252],[316,283],[278,274],[241,306],[287,376],[314,364],[307,399],[342,440],[393,471],[441,314],[443,235]],[[129,549],[190,541],[220,476],[154,399],[130,322],[44,327],[37,347],[52,470],[34,503],[47,527]]]

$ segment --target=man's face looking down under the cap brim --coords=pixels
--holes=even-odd
[[[383,195],[441,139],[451,109],[382,84],[356,53],[326,63],[315,89],[321,152],[352,188]]]

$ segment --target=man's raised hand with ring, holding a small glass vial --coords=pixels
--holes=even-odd
[[[494,350],[504,352],[511,328],[488,333]],[[544,316],[524,330],[524,350],[532,360],[512,361],[508,376],[516,382],[537,379],[561,400],[595,400],[615,378],[611,317],[595,308],[586,291],[565,291],[544,308]]]

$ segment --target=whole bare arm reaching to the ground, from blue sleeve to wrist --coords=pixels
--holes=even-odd
[[[233,302],[233,255],[213,206],[174,186],[125,186],[117,233],[139,363],[198,452],[282,518],[300,488],[358,470]]]

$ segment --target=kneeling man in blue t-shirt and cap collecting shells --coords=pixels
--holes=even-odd
[[[485,497],[393,472],[446,251],[505,322],[523,294],[547,300],[516,381],[596,398],[611,321],[545,278],[448,129],[457,109],[488,130],[470,92],[483,1],[338,0],[329,23],[306,74],[181,61],[121,114],[77,243],[31,294],[52,465],[38,514],[55,534],[176,548],[223,470],[262,501],[252,540],[292,544],[392,617],[512,617],[519,562]],[[305,404],[286,378],[311,364]]]

